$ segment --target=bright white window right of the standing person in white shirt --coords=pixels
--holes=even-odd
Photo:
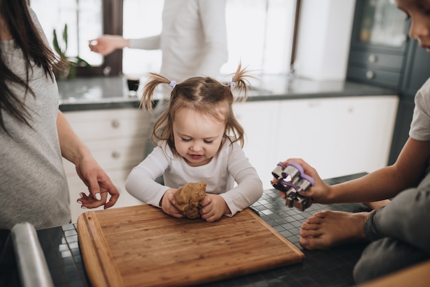
[[[287,73],[293,41],[295,0],[227,0],[229,60],[222,73],[239,61],[263,73]]]

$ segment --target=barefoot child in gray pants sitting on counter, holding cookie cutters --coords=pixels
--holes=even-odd
[[[430,54],[430,0],[396,0],[396,5],[411,19],[411,38],[418,39]],[[430,259],[430,79],[416,93],[415,105],[409,139],[391,166],[329,186],[302,159],[284,163],[297,161],[306,174],[313,176],[315,186],[302,195],[315,203],[392,198],[370,212],[321,211],[302,225],[299,243],[304,249],[370,240],[354,268],[357,284]]]

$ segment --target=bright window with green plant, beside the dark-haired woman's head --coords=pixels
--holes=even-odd
[[[78,76],[118,74],[122,70],[122,51],[102,57],[89,50],[88,41],[101,34],[122,34],[122,2],[110,0],[30,0],[49,45],[56,30],[60,47],[65,49],[63,28],[67,24],[67,56],[80,56],[93,67],[78,68]]]

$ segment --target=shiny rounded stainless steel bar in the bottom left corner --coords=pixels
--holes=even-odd
[[[11,231],[21,284],[24,287],[54,287],[36,229],[28,222]]]

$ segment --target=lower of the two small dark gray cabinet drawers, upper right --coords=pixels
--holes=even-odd
[[[358,80],[367,84],[397,89],[400,81],[400,72],[365,69],[363,67],[348,67],[348,80]]]

